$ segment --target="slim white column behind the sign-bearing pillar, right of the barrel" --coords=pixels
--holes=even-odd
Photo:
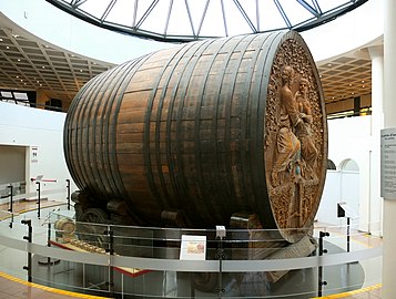
[[[382,236],[380,130],[384,128],[384,47],[368,48],[372,58],[372,144],[369,155],[368,231]]]

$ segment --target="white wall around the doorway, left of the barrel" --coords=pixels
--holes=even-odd
[[[71,177],[63,156],[64,118],[65,113],[0,102],[0,145],[29,147],[24,177],[27,193],[34,193],[37,189],[35,183],[30,178],[43,175],[43,179],[57,179],[41,183],[43,197],[67,199],[65,179]],[[72,184],[71,192],[75,189]],[[45,195],[52,190],[57,192]]]

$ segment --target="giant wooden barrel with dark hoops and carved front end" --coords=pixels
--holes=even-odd
[[[245,212],[296,241],[327,165],[319,76],[293,31],[154,52],[80,90],[64,154],[82,190],[99,206],[125,202],[138,225],[161,226],[175,209],[191,227],[214,228]]]

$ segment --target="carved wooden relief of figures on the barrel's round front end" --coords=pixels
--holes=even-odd
[[[305,49],[284,41],[275,55],[265,114],[265,169],[280,228],[302,228],[319,202],[326,137],[321,94]]]

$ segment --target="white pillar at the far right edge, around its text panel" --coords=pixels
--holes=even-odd
[[[384,126],[396,127],[396,1],[384,0]],[[384,198],[384,299],[396,298],[396,198]]]

